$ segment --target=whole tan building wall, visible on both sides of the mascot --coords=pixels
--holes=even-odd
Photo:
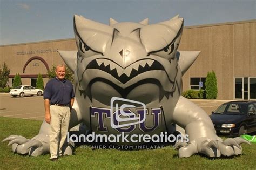
[[[22,83],[30,85],[38,73],[46,75],[40,58],[51,69],[53,64],[64,63],[57,50],[76,49],[75,39],[3,45],[0,63],[8,65],[10,76],[19,73],[24,77]],[[256,20],[185,27],[178,50],[201,51],[183,76],[183,91],[190,89],[190,78],[206,77],[213,70],[217,75],[218,99],[234,99],[235,77],[256,78]],[[32,57],[37,59],[29,62]],[[44,84],[46,81],[48,78],[44,78]]]

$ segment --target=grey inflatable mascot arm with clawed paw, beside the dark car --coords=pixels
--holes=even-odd
[[[185,129],[190,142],[178,142],[179,157],[190,157],[196,153],[203,153],[208,157],[231,156],[242,153],[241,143],[247,143],[242,138],[228,138],[222,140],[217,137],[210,117],[188,99],[180,96],[174,109],[173,120]]]

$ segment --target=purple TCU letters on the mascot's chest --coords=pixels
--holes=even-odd
[[[118,115],[116,115],[118,113]],[[136,113],[133,113],[129,109],[124,109],[123,112],[121,110],[118,110],[114,113],[112,113],[111,117],[111,109],[110,108],[99,108],[99,107],[92,107],[91,108],[91,117],[96,118],[96,114],[98,117],[98,126],[97,126],[97,131],[100,132],[108,132],[108,128],[104,124],[105,119],[113,119],[113,124],[118,126],[120,122],[118,122],[117,118],[126,116],[127,118],[132,118],[130,120],[138,120],[137,122],[139,123],[133,123],[133,124],[123,124],[124,126],[119,126],[115,128],[118,132],[132,132],[133,130],[136,129],[136,126],[139,125],[139,129],[142,132],[153,132],[158,126],[159,126],[159,120],[160,120],[160,114],[161,114],[161,109],[160,108],[151,108],[150,114],[153,116],[153,126],[152,127],[147,127],[146,126],[146,116],[149,116],[149,109],[145,108],[144,109],[137,109]],[[105,117],[105,118],[104,118]],[[134,119],[138,118],[138,119]],[[143,121],[145,120],[145,121]]]

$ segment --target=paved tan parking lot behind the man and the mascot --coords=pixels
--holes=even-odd
[[[220,104],[227,100],[191,99],[193,103],[211,114]],[[43,96],[11,97],[8,93],[0,93],[0,116],[10,118],[44,120]]]

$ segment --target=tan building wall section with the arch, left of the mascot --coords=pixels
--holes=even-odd
[[[31,78],[37,78],[38,73],[45,77],[47,69],[51,69],[53,64],[64,64],[58,50],[76,50],[75,39],[0,46],[0,63],[5,62],[11,68],[10,77],[20,74],[22,83],[30,85]],[[38,59],[30,61],[31,58]],[[45,60],[46,65],[41,59]],[[44,78],[44,84],[47,81]],[[11,79],[9,85],[11,86]]]

